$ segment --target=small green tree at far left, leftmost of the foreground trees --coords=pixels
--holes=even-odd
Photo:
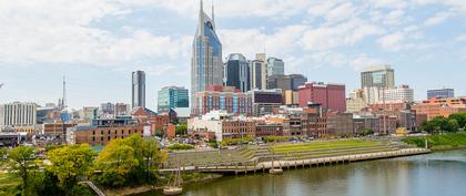
[[[31,146],[19,146],[8,152],[9,174],[21,177],[21,194],[33,195],[30,187],[30,174],[38,169],[36,162],[36,148]]]

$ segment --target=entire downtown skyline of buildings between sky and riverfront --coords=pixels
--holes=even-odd
[[[70,111],[65,91],[58,104],[7,103],[0,107],[3,144],[90,143],[104,145],[130,134],[172,138],[176,124],[188,123],[192,136],[223,141],[243,136],[357,136],[371,130],[378,135],[418,131],[435,116],[466,112],[466,97],[450,89],[430,90],[428,99],[414,100],[408,85],[395,85],[389,65],[361,73],[361,89],[346,97],[346,86],[312,82],[303,74],[285,74],[282,59],[257,53],[225,55],[216,35],[214,13],[200,4],[192,44],[191,89],[165,86],[158,92],[156,112],[146,109],[145,73],[134,71],[131,104],[103,103]],[[64,89],[64,82],[63,82]],[[13,142],[11,142],[13,141]]]

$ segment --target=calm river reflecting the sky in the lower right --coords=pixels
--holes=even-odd
[[[159,196],[160,192],[138,196]],[[466,151],[226,176],[185,196],[466,196]]]

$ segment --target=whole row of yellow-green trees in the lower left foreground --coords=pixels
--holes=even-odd
[[[97,153],[88,144],[51,147],[43,157],[38,148],[19,146],[0,151],[0,164],[16,187],[0,188],[0,195],[88,196],[92,192],[80,184],[94,180],[108,187],[153,184],[166,154],[156,141],[140,135],[115,138]]]

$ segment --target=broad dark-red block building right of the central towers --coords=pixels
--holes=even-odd
[[[345,85],[344,84],[324,84],[323,82],[306,82],[300,86],[298,100],[301,107],[307,107],[308,104],[322,104],[323,110],[345,112]]]

